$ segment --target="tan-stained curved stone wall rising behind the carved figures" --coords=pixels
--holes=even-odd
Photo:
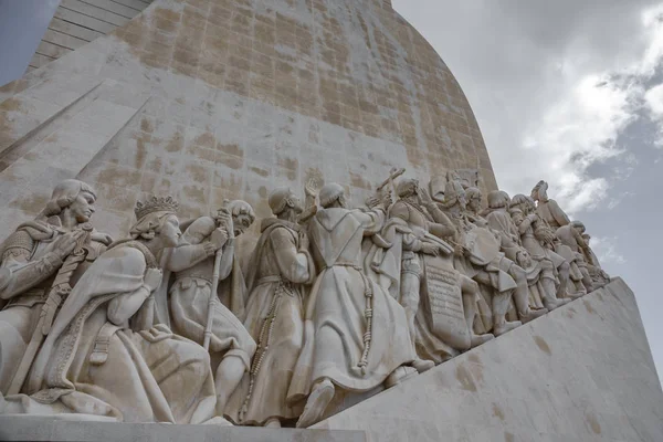
[[[477,169],[496,188],[457,82],[383,0],[157,0],[0,90],[0,236],[78,177],[95,224],[127,232],[135,201],[183,218],[311,177],[360,203],[392,166],[425,180]]]

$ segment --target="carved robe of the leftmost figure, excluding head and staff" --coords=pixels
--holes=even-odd
[[[60,218],[25,222],[0,245],[0,392],[7,393],[34,325],[63,261],[46,248],[65,233]],[[74,286],[110,238],[94,232],[85,261],[70,280]]]

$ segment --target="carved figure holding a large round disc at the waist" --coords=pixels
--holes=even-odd
[[[491,288],[493,334],[498,336],[520,325],[520,322],[508,323],[505,319],[512,296],[523,323],[546,314],[546,309],[529,308],[525,271],[501,252],[496,235],[470,221],[465,190],[460,182],[448,182],[442,207],[456,225],[456,270]]]

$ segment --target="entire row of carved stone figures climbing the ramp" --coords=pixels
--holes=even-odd
[[[0,245],[0,413],[305,428],[609,282],[545,183],[484,209],[459,173],[403,172],[357,209],[338,183],[274,189],[246,269],[245,201],[180,224],[151,197],[114,242],[63,181]]]

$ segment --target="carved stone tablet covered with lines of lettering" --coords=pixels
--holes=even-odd
[[[469,337],[461,282],[452,256],[424,256],[422,296],[435,334],[457,340]]]

